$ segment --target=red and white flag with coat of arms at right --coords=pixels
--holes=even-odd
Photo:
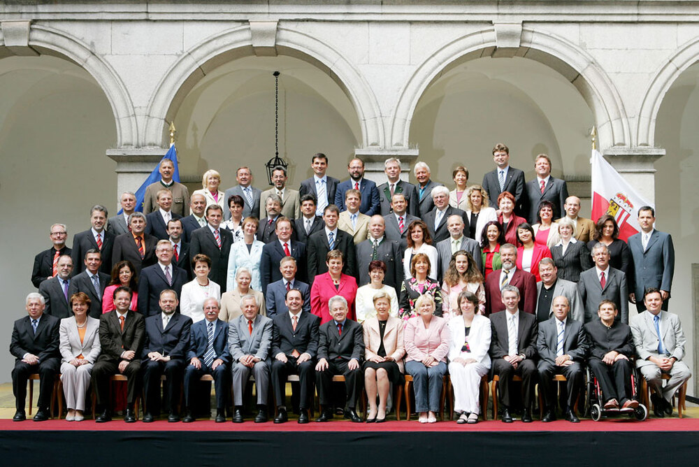
[[[652,206],[597,150],[592,150],[592,220],[609,214],[619,224],[619,238],[628,238],[641,231],[637,212],[641,206]]]

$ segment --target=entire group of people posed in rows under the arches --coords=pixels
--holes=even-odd
[[[482,185],[467,187],[468,170],[457,167],[450,191],[431,180],[424,162],[415,164],[417,184],[411,185],[401,179],[401,161],[387,159],[387,182],[377,186],[363,177],[361,159],[349,162],[349,180],[340,182],[326,175],[328,158],[317,154],[315,175],[298,191],[286,186],[281,166],[264,192],[252,187],[250,168],[241,167],[235,187],[222,192],[219,173],[210,170],[203,189],[189,196],[187,187],[172,180],[172,161],[163,159],[161,180],[147,187],[143,213],[129,192],[114,217],[94,206],[91,227],[75,234],[72,249],[66,226],[52,225],[53,245],[34,261],[31,280],[38,294],[29,294],[29,317],[13,331],[15,419],[24,419],[29,374],[42,377],[35,419],[45,419],[52,387],[46,377],[61,373],[66,418],[82,419],[92,383],[97,421],[106,422],[112,412],[109,381],[119,373],[128,378],[124,419],[135,421],[134,401],[143,385],[143,421],[157,418],[160,405],[168,420],[178,421],[184,380],[189,422],[196,415],[196,382],[211,374],[217,421],[226,419],[226,404],[232,403],[233,422],[242,422],[252,374],[255,421],[267,420],[271,378],[275,422],[284,422],[284,383],[289,373],[298,373],[299,422],[308,422],[314,382],[322,405],[318,421],[331,418],[341,404],[345,417],[361,421],[355,407],[363,386],[368,421],[382,422],[391,384],[403,382],[407,372],[414,379],[419,421],[434,422],[448,371],[459,422],[477,421],[480,379],[489,372],[499,375],[505,422],[517,407],[512,374],[522,376],[519,405],[526,421],[535,382],[554,390],[548,376],[538,375],[565,370],[570,391],[563,408],[575,421],[570,397],[575,401],[579,364],[590,355],[591,368],[601,373],[599,362],[592,363],[598,357],[596,329],[588,327],[603,323],[607,334],[614,326],[628,328],[628,301],[639,312],[632,327],[641,317],[647,321],[646,308],[665,319],[664,327],[651,329],[655,354],[647,354],[647,343],[633,347],[624,341],[630,352],[620,346],[598,360],[617,368],[624,360],[619,355],[632,357],[641,345],[645,353],[637,351],[636,364],[656,389],[654,397],[668,401],[676,381],[663,389],[660,373],[674,371],[681,380],[689,370],[681,361],[679,319],[666,311],[672,238],[654,229],[654,210],[640,208],[642,232],[627,244],[614,217],[595,223],[578,215],[579,199],[550,175],[546,155],[535,159],[537,176],[529,182],[509,165],[505,145],[493,148],[493,161],[497,167]],[[653,290],[660,299],[656,312],[647,304]],[[614,308],[608,323],[605,303]],[[552,340],[549,334],[561,322],[565,331]],[[569,333],[578,336],[575,352],[547,350],[561,336],[568,345]],[[609,357],[612,351],[618,354]],[[658,368],[655,375],[651,370]],[[340,374],[346,394],[333,394],[332,376]],[[231,385],[233,401],[227,401]],[[619,388],[604,389],[610,407],[633,405]],[[545,421],[555,417],[551,399]],[[658,416],[667,409],[663,401],[656,404]]]

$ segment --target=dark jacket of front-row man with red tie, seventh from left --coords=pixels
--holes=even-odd
[[[315,358],[318,353],[320,318],[303,310],[298,317],[296,331],[291,325],[289,313],[284,312],[273,318],[272,353],[290,356],[294,350],[299,354],[309,354]]]

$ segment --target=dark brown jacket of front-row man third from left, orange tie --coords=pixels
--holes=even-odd
[[[138,312],[129,310],[124,319],[124,331],[119,324],[117,310],[111,310],[99,318],[99,344],[102,353],[97,361],[119,363],[125,350],[136,352],[135,359],[140,358],[145,339],[145,319]]]

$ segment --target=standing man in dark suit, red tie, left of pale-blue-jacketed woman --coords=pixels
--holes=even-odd
[[[221,293],[226,292],[226,275],[228,273],[228,255],[233,245],[233,234],[226,229],[219,229],[223,220],[221,206],[212,204],[206,208],[206,227],[192,232],[189,240],[189,254],[206,254],[211,259],[209,279],[221,286]]]

